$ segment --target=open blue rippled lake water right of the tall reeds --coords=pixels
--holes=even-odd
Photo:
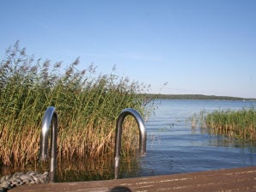
[[[192,129],[189,117],[200,111],[240,110],[255,101],[159,99],[146,121],[147,153],[135,177],[209,171],[256,165],[256,147]]]

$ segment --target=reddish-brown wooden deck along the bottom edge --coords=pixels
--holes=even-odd
[[[118,191],[256,191],[256,166],[182,173],[155,177],[138,177],[107,181],[25,184],[11,192],[118,192]]]

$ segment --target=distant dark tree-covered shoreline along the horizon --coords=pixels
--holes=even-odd
[[[218,100],[256,100],[256,98],[240,98],[204,94],[147,94],[150,99],[218,99]]]

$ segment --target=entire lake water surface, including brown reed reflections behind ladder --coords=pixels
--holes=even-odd
[[[207,129],[192,126],[188,117],[200,111],[239,110],[256,102],[225,100],[157,100],[155,114],[146,121],[147,153],[143,158],[120,161],[120,177],[143,177],[256,165],[256,147]],[[193,128],[192,128],[193,127]],[[58,162],[57,182],[113,179],[113,154],[102,159],[72,158]],[[46,167],[27,167],[46,171]],[[17,170],[13,170],[15,172]],[[21,171],[21,170],[18,170]],[[9,171],[2,167],[3,175]]]

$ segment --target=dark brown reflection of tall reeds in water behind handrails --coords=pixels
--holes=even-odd
[[[109,180],[114,178],[113,155],[107,155],[100,159],[79,159],[73,158],[71,161],[58,161],[55,182],[79,182]],[[119,167],[120,177],[137,177],[137,158],[123,157]],[[27,171],[49,171],[49,162],[40,162],[40,165],[27,165],[24,169],[2,167],[1,174],[9,175],[15,172]]]

